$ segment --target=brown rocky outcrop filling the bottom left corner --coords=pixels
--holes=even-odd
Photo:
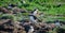
[[[24,28],[11,19],[0,20],[0,33],[25,33]]]

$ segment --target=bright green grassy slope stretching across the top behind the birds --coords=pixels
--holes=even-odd
[[[35,7],[38,7],[40,12],[49,15],[56,15],[62,14],[65,15],[65,0],[25,0],[26,3],[22,3],[22,0],[0,0],[0,6],[8,6],[8,4],[13,3],[17,4],[21,9],[26,9],[28,11],[34,10]],[[57,7],[58,3],[62,2],[61,6]],[[65,17],[54,17],[54,16],[46,16],[44,20],[54,20],[55,19],[62,19],[65,20]]]

